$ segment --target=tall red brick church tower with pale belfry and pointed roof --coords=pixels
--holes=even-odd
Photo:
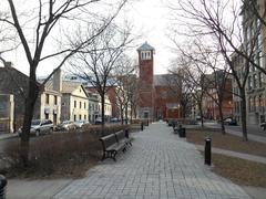
[[[137,50],[140,65],[139,118],[154,117],[153,54],[155,49],[145,42]]]

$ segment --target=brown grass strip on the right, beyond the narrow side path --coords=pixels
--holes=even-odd
[[[190,143],[205,145],[206,136],[212,137],[213,147],[266,157],[266,144],[254,140],[243,142],[242,137],[222,135],[221,132],[209,128],[186,129],[186,139]]]

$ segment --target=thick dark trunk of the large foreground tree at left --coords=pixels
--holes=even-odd
[[[29,81],[29,91],[25,100],[23,127],[20,142],[20,158],[23,167],[28,167],[31,121],[33,117],[35,101],[39,94],[39,87],[35,84],[35,73],[31,72],[30,76],[32,77],[30,77]]]

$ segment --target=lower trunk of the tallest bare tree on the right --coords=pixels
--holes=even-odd
[[[245,92],[245,87],[241,87],[241,119],[242,119],[242,134],[243,134],[243,140],[247,142],[247,122],[246,122],[246,92]]]

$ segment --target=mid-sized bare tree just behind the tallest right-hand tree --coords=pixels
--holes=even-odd
[[[232,95],[232,91],[226,90],[229,81],[228,64],[223,60],[219,51],[216,50],[218,46],[205,46],[200,40],[194,41],[192,45],[193,48],[177,48],[183,56],[190,59],[193,63],[197,63],[194,65],[203,82],[194,82],[200,87],[203,85],[204,96],[211,97],[218,107],[221,128],[222,133],[225,134],[223,106],[225,97]]]

